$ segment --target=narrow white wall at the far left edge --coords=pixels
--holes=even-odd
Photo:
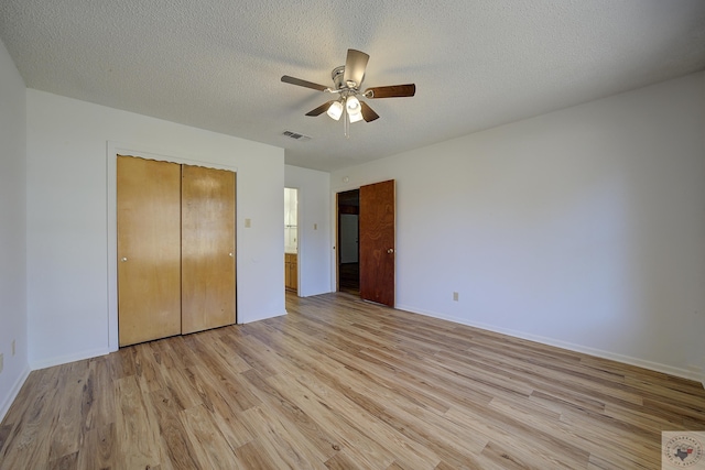
[[[24,83],[0,41],[0,420],[29,374]],[[15,353],[12,354],[12,341]]]

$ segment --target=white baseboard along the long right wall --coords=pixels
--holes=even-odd
[[[629,365],[636,365],[643,369],[649,369],[655,372],[662,372],[669,375],[675,375],[683,379],[688,379],[695,382],[701,382],[705,387],[705,375],[703,371],[694,371],[688,369],[674,368],[668,364],[661,364],[659,362],[647,361],[639,358],[632,358],[630,356],[618,354],[611,351],[605,351],[601,349],[589,348],[582,345],[575,345],[567,341],[561,341],[554,338],[547,338],[543,336],[532,335],[524,331],[512,330],[509,328],[501,328],[494,325],[487,325],[481,323],[468,321],[463,318],[456,318],[448,315],[442,315],[435,311],[424,311],[408,305],[398,305],[395,308],[400,310],[411,311],[412,314],[424,315],[427,317],[440,318],[442,320],[453,321],[455,324],[466,325],[474,328],[479,328],[487,331],[498,332],[501,335],[511,336],[514,338],[525,339],[529,341],[540,342],[542,345],[554,346],[556,348],[567,349],[568,351],[582,352],[584,354],[595,356],[601,359],[609,359],[612,361],[621,362]]]

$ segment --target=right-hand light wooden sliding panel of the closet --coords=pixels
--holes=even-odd
[[[232,325],[235,182],[225,170],[182,167],[182,332]]]

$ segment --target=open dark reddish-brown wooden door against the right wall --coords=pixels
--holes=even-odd
[[[394,181],[360,187],[360,297],[394,306]]]

